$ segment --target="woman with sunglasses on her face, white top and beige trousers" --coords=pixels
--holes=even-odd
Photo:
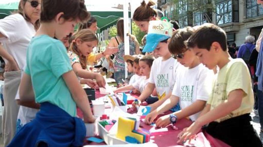
[[[4,146],[16,133],[19,105],[15,101],[26,64],[26,49],[39,27],[41,0],[20,0],[18,11],[0,20],[0,56],[6,63],[4,73]]]

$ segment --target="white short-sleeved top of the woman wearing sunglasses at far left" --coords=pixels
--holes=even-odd
[[[20,14],[9,15],[0,19],[0,32],[5,36],[0,38],[4,49],[13,56],[19,68],[24,69],[27,46],[36,33],[33,24]],[[6,59],[4,61],[7,63]]]

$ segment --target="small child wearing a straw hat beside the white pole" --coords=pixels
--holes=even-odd
[[[125,84],[126,85],[129,85],[129,84],[132,84],[132,83],[135,83],[135,76],[134,76],[134,72],[133,72],[133,61],[134,59],[136,58],[137,55],[124,55],[123,56],[123,59],[124,61],[127,63],[127,69],[128,69],[128,72],[130,73],[130,75],[128,75],[128,77],[125,79]]]

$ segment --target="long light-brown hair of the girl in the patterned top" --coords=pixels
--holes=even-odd
[[[90,29],[82,29],[77,32],[77,34],[74,35],[74,40],[72,40],[69,50],[75,54],[78,55],[79,57],[79,62],[82,67],[82,69],[87,68],[87,57],[81,55],[79,49],[77,48],[76,40],[80,39],[81,42],[91,42],[96,40],[98,43],[98,39],[96,35],[90,30]]]

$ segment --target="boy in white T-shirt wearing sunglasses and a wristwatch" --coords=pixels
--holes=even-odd
[[[195,121],[199,112],[203,110],[212,90],[214,73],[201,64],[195,53],[189,50],[184,44],[184,41],[193,32],[194,29],[186,27],[176,30],[172,35],[169,51],[177,57],[177,61],[181,64],[177,69],[176,83],[171,97],[146,116],[146,123],[151,124],[158,115],[168,111],[178,102],[180,102],[181,110],[160,117],[156,121],[157,127],[166,127],[168,124],[175,124],[178,119],[186,117],[189,117],[191,121]]]

